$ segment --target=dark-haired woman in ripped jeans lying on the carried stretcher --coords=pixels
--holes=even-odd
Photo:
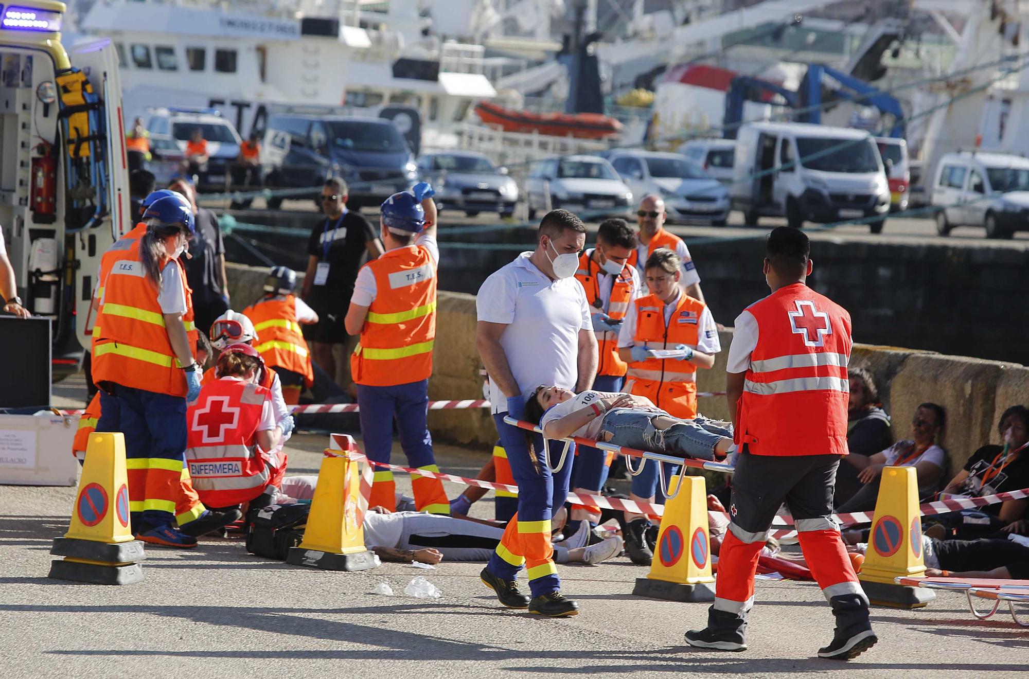
[[[542,385],[525,413],[526,420],[539,422],[547,438],[581,436],[700,460],[722,460],[732,452],[731,424],[704,417],[680,420],[645,396],[593,390],[575,394]]]

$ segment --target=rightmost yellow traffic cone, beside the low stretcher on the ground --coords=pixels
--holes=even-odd
[[[874,604],[921,608],[936,595],[931,589],[895,584],[894,578],[924,574],[918,473],[914,467],[886,467],[858,579]]]

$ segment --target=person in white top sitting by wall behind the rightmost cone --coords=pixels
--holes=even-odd
[[[911,423],[912,438],[897,441],[890,448],[871,457],[845,455],[844,462],[861,471],[857,478],[864,488],[843,503],[838,511],[871,511],[879,497],[879,483],[884,467],[915,467],[918,475],[918,497],[931,497],[939,489],[939,480],[947,468],[947,453],[936,444],[936,437],[944,429],[944,408],[935,403],[922,403],[915,410]]]

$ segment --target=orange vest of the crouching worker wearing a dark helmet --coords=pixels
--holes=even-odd
[[[244,309],[243,315],[254,324],[254,349],[264,359],[264,365],[303,374],[308,387],[315,383],[311,352],[296,322],[296,297],[264,297]]]

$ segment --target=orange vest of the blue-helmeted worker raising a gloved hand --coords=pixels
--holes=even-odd
[[[436,336],[436,264],[420,245],[390,250],[364,264],[376,277],[376,298],[350,357],[354,382],[391,387],[432,374]]]

